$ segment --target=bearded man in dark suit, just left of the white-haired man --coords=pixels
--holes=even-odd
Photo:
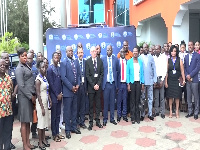
[[[78,100],[77,100],[77,124],[81,128],[86,129],[85,125],[85,106],[86,106],[86,93],[87,93],[87,83],[85,77],[85,60],[83,59],[83,48],[78,47],[76,60],[80,67],[80,87],[78,90]]]

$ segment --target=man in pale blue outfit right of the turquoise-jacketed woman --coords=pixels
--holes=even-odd
[[[140,59],[143,61],[143,68],[144,68],[144,86],[145,90],[142,93],[143,97],[145,96],[145,92],[147,91],[147,98],[148,98],[148,118],[150,120],[154,120],[152,115],[152,107],[153,107],[153,84],[157,82],[157,75],[156,75],[156,67],[153,56],[148,54],[149,46],[144,43],[143,44],[144,54],[140,55]],[[145,112],[141,115],[141,121],[144,120]]]

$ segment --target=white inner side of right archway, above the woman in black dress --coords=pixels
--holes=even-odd
[[[184,40],[186,45],[189,41],[189,11],[183,17],[180,26],[172,26],[172,44],[179,44]]]

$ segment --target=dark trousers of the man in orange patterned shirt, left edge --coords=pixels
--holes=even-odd
[[[13,115],[0,118],[0,150],[10,150]]]

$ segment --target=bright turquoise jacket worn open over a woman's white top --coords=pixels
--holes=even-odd
[[[138,63],[140,65],[140,84],[144,84],[143,62],[140,58],[138,58]],[[126,83],[134,83],[133,58],[129,59],[126,65]]]

